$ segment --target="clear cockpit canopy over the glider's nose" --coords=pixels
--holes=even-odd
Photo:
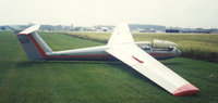
[[[164,40],[154,40],[153,44],[150,41],[141,41],[135,43],[143,50],[172,51],[174,48],[179,48],[177,43]]]

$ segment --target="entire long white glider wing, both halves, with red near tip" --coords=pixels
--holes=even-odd
[[[117,26],[108,46],[112,47],[106,50],[106,52],[124,62],[173,95],[192,95],[199,91],[189,81],[140,49],[134,43],[128,24],[121,23]]]

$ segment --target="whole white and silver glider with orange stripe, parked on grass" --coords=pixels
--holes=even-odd
[[[181,51],[175,43],[162,40],[154,40],[153,46],[149,41],[134,42],[126,23],[120,23],[117,26],[107,46],[64,51],[52,51],[36,33],[38,28],[39,25],[34,25],[19,34],[15,33],[29,60],[120,60],[174,96],[189,96],[199,91],[199,89],[157,61],[179,56]],[[161,44],[165,49],[158,44]]]

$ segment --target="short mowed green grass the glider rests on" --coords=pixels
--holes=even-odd
[[[52,50],[105,43],[39,33]],[[218,64],[177,57],[160,61],[201,91],[173,96],[121,62],[31,61],[12,31],[0,31],[0,103],[218,102]]]

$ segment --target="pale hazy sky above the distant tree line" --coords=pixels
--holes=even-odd
[[[0,25],[218,28],[218,0],[0,0]]]

